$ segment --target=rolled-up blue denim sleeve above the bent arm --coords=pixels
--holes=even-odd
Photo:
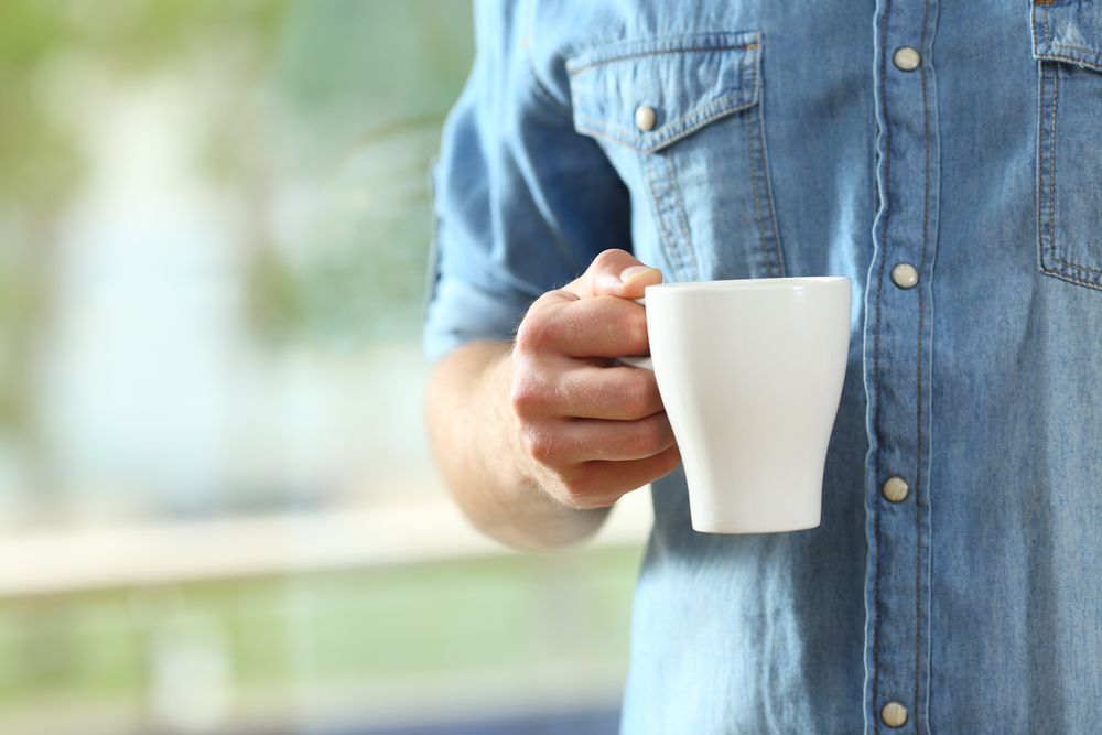
[[[433,169],[430,359],[509,339],[541,293],[602,250],[630,249],[627,190],[599,145],[575,132],[569,91],[537,77],[520,4],[475,3],[475,64]]]

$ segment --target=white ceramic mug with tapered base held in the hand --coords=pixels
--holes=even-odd
[[[647,287],[652,369],[689,485],[712,533],[819,526],[850,345],[847,278]]]

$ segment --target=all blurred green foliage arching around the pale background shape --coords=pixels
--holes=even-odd
[[[217,109],[196,100],[216,118],[197,163],[249,208],[247,323],[270,348],[347,350],[417,338],[429,162],[473,55],[458,0],[0,3],[0,432],[34,443],[58,230],[87,173],[58,67],[126,83],[230,58]]]

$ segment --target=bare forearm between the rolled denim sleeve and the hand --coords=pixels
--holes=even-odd
[[[541,487],[511,408],[511,376],[504,343],[471,343],[440,361],[426,401],[436,463],[460,507],[487,536],[533,549],[582,541],[608,509],[570,508]]]

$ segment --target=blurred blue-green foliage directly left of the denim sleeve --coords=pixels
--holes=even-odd
[[[274,64],[274,119],[311,219],[253,262],[270,341],[355,348],[415,338],[432,220],[429,162],[474,58],[456,0],[293,6]],[[302,192],[299,192],[302,194]]]

